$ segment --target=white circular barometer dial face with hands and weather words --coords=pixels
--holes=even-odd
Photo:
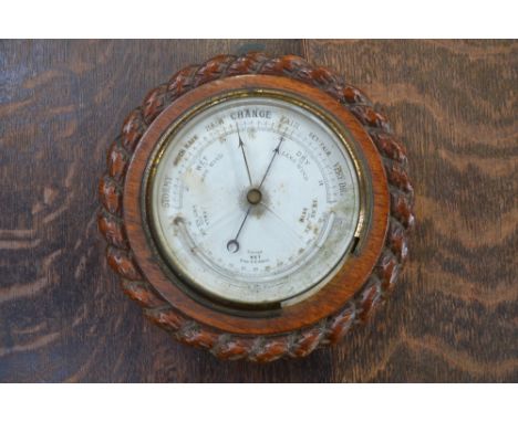
[[[166,261],[211,296],[247,305],[321,286],[346,259],[359,179],[336,134],[291,102],[231,98],[169,136],[149,190]]]

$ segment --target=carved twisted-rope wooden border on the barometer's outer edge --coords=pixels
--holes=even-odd
[[[280,335],[246,336],[219,331],[175,309],[146,281],[130,247],[123,220],[123,190],[132,155],[147,127],[175,99],[215,80],[235,75],[284,76],[328,93],[360,122],[382,156],[390,191],[390,221],[383,251],[363,287],[343,308],[313,326]],[[176,73],[168,83],[148,93],[142,106],[126,117],[122,133],[110,147],[107,171],[99,187],[102,208],[99,228],[107,241],[110,266],[120,275],[124,292],[143,306],[145,315],[177,340],[208,349],[220,359],[268,362],[281,357],[304,357],[315,348],[339,341],[362,323],[392,291],[407,256],[407,231],[414,224],[414,192],[407,177],[404,148],[394,138],[386,118],[358,88],[323,67],[299,56],[269,57],[262,53],[219,55]]]

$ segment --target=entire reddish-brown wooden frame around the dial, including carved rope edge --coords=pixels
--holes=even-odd
[[[375,200],[366,253],[360,256],[358,270],[352,272],[346,263],[340,277],[277,317],[241,318],[200,306],[164,277],[143,232],[139,198],[146,157],[182,110],[218,92],[258,86],[291,89],[332,110],[361,144]],[[407,254],[406,230],[414,222],[406,156],[386,119],[359,89],[296,56],[218,56],[180,71],[169,84],[152,91],[112,146],[100,193],[99,225],[110,243],[108,263],[146,315],[180,341],[208,348],[219,358],[253,361],[307,356],[318,346],[338,341],[363,320],[392,288]],[[343,273],[353,274],[354,283],[339,283]]]

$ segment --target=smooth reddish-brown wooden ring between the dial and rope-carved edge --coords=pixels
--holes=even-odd
[[[158,264],[156,250],[146,239],[146,219],[143,215],[143,196],[145,196],[146,169],[154,159],[157,144],[173,122],[176,122],[193,107],[207,98],[217,98],[231,92],[277,89],[298,95],[322,109],[331,113],[345,126],[359,145],[364,156],[365,172],[371,176],[372,217],[370,226],[363,233],[362,253],[351,255],[338,274],[319,292],[305,300],[283,307],[269,316],[249,313],[249,316],[237,316],[205,306],[190,297],[175,283]],[[364,284],[383,249],[388,221],[388,189],[383,171],[383,163],[377,150],[365,130],[344,107],[328,94],[297,81],[271,75],[239,75],[207,83],[193,89],[172,103],[148,127],[135,152],[126,175],[123,198],[124,223],[130,245],[139,268],[147,281],[186,316],[217,329],[244,335],[274,335],[315,324],[325,316],[340,310]]]

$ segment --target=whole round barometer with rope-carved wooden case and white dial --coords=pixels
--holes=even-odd
[[[153,89],[100,183],[123,289],[182,342],[267,362],[336,342],[407,255],[405,151],[358,88],[292,55],[220,55]]]

